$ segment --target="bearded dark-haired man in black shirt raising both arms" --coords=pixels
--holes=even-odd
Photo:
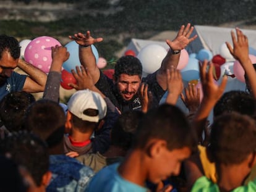
[[[158,106],[160,99],[167,89],[166,70],[171,69],[171,66],[174,68],[177,67],[180,50],[186,48],[187,44],[197,38],[197,36],[189,38],[193,30],[194,27],[190,27],[190,23],[188,23],[186,27],[182,25],[173,41],[166,40],[170,50],[163,59],[160,69],[148,75],[148,77],[142,78],[142,64],[139,59],[132,56],[121,57],[115,65],[114,81],[107,78],[98,67],[96,67],[95,57],[90,47],[94,43],[103,41],[103,38],[93,38],[90,35],[90,31],[87,31],[86,35],[77,33],[74,36],[69,36],[69,38],[79,44],[80,62],[92,75],[95,86],[105,94],[121,112],[125,112],[142,107],[142,101],[138,94],[141,82],[147,83],[145,91],[148,89],[153,96],[151,106]]]

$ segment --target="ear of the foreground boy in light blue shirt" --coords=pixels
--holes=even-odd
[[[166,145],[166,141],[163,140],[151,141],[146,148],[148,156],[151,158],[159,157],[163,149],[166,148]]]

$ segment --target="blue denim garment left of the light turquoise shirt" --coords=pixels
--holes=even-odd
[[[87,167],[65,155],[52,155],[49,157],[52,172],[51,182],[46,191],[85,191],[94,172]]]

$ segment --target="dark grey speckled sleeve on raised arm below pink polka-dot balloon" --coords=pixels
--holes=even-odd
[[[44,99],[59,102],[59,85],[61,83],[61,73],[49,72],[45,92],[43,93]]]

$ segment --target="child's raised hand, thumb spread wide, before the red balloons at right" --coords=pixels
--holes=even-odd
[[[203,61],[203,64],[200,64],[200,79],[202,82],[203,89],[203,101],[211,101],[216,102],[221,98],[226,83],[228,81],[228,77],[224,75],[223,80],[221,81],[221,85],[218,86],[214,82],[213,78],[213,64],[210,63],[210,67],[207,72],[207,60]],[[203,102],[202,101],[202,102]]]

